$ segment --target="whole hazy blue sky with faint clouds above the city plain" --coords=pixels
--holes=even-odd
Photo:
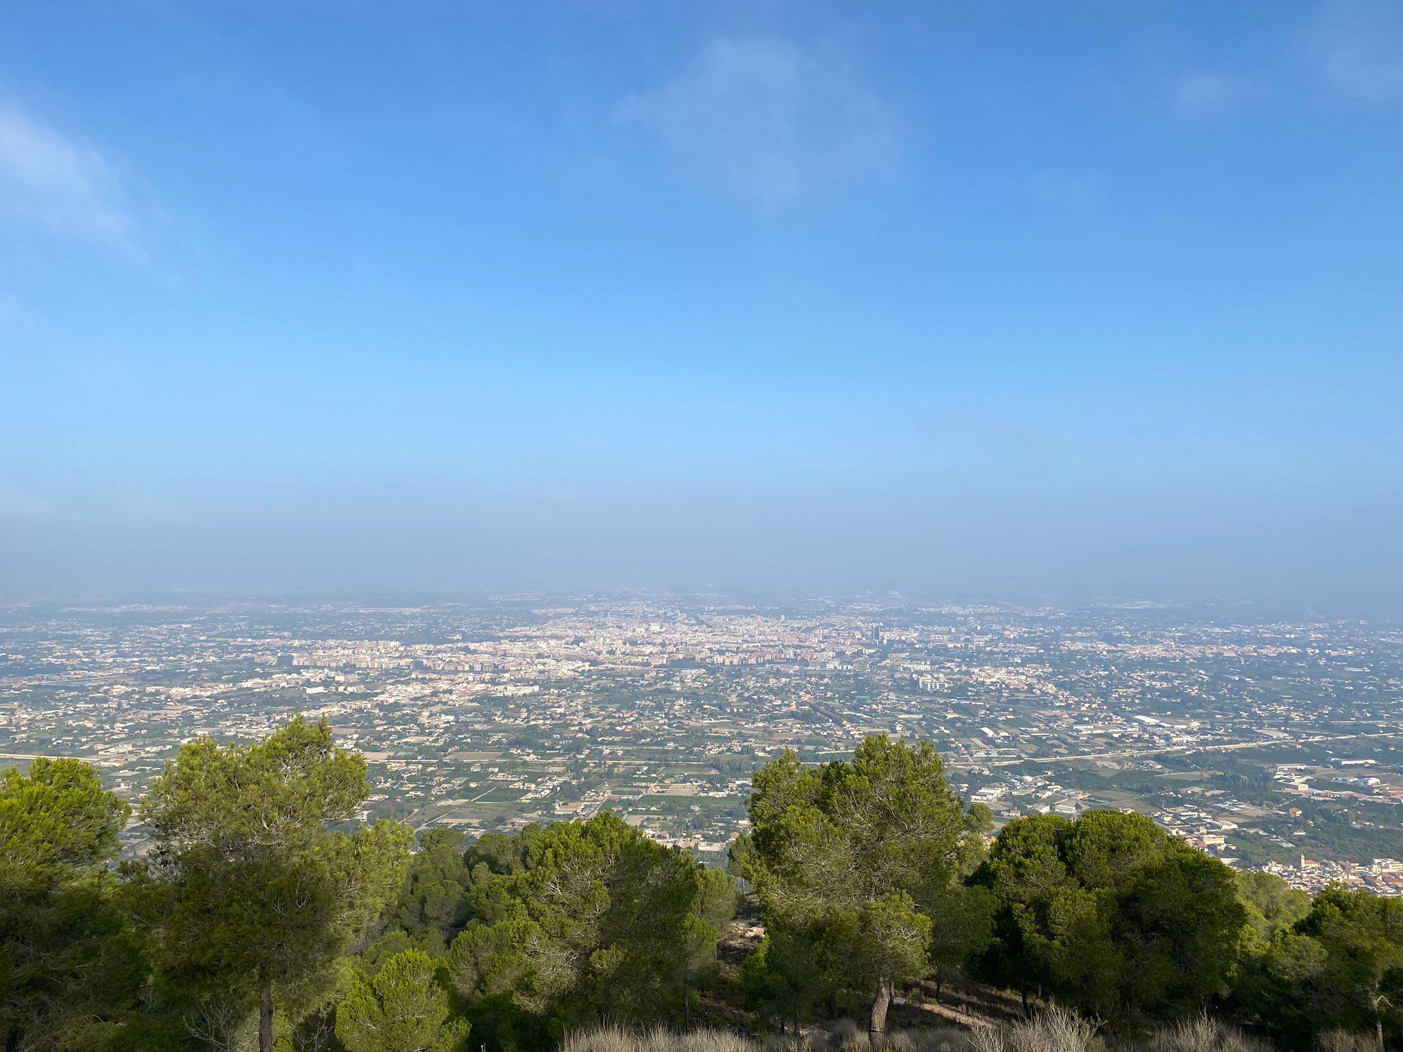
[[[1392,3],[11,4],[0,595],[1388,598],[1400,292]]]

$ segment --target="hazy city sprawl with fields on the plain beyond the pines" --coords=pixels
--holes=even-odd
[[[895,595],[0,610],[0,764],[83,757],[135,798],[181,742],[295,713],[370,760],[363,816],[421,829],[609,809],[718,861],[756,766],[890,731],[1000,821],[1135,809],[1303,889],[1403,892],[1396,624]]]

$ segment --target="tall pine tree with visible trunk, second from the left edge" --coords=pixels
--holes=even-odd
[[[407,826],[334,829],[368,793],[363,757],[299,717],[258,745],[182,746],[142,801],[153,849],[133,889],[163,979],[257,1006],[261,1052],[278,1000],[323,997],[333,964],[404,882]]]

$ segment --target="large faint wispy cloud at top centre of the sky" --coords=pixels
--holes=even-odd
[[[777,209],[895,164],[895,121],[833,49],[718,36],[615,118],[651,132],[690,177]]]

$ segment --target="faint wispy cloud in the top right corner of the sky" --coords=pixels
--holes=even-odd
[[[1367,101],[1403,101],[1403,6],[1396,0],[1330,0],[1310,53],[1336,90]]]

